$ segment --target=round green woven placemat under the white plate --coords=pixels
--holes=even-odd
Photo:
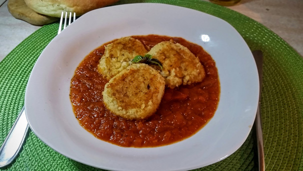
[[[200,0],[123,1],[164,3],[198,10],[231,24],[251,50],[262,50],[261,119],[266,170],[303,169],[303,60],[281,38],[237,12]],[[24,104],[30,71],[45,46],[56,36],[58,23],[34,32],[0,62],[0,144]],[[196,170],[256,170],[254,131],[226,159]],[[55,152],[29,131],[19,156],[7,170],[99,170]]]

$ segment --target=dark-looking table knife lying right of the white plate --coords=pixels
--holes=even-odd
[[[262,127],[261,127],[261,117],[260,117],[260,102],[261,102],[261,91],[262,91],[262,77],[263,77],[263,54],[262,51],[252,51],[252,55],[256,64],[259,75],[259,102],[255,115],[255,128],[256,128],[256,140],[257,140],[257,150],[258,150],[258,163],[259,170],[265,170],[264,162],[264,148],[263,148],[263,136],[262,136]]]

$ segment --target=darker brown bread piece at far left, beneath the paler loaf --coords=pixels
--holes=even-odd
[[[14,18],[23,20],[32,25],[46,25],[59,20],[55,17],[49,17],[34,12],[27,7],[24,0],[9,0],[7,9]]]

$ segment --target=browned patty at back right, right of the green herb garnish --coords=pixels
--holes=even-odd
[[[204,67],[186,47],[172,42],[160,42],[147,53],[163,65],[160,74],[169,88],[200,82],[205,77]]]

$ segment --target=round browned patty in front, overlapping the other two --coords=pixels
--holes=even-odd
[[[143,119],[156,111],[164,88],[158,71],[146,64],[132,64],[106,83],[103,102],[115,115]]]

